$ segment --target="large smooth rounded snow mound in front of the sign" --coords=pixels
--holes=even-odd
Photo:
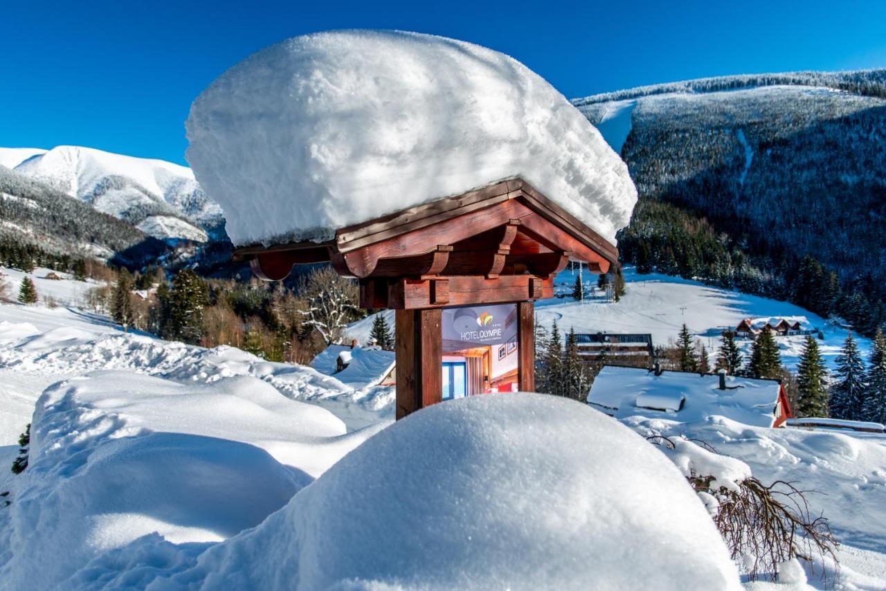
[[[590,408],[540,394],[456,400],[393,424],[172,579],[263,589],[739,587],[702,502],[664,455]]]

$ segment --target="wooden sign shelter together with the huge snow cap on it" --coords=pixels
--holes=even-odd
[[[237,260],[269,280],[330,262],[360,281],[362,307],[397,311],[398,417],[441,400],[443,307],[515,304],[517,381],[532,391],[532,302],[567,261],[617,264],[637,197],[538,74],[431,35],[278,43],[213,82],[187,128]]]

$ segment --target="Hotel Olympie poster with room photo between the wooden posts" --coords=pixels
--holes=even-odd
[[[517,305],[442,310],[443,400],[517,391]]]

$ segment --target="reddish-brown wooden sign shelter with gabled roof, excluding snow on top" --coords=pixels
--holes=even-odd
[[[618,264],[618,250],[516,178],[338,229],[328,242],[247,246],[234,258],[267,280],[283,279],[293,265],[330,262],[359,281],[361,307],[395,310],[401,418],[443,400],[445,380],[461,379],[461,368],[444,375],[443,308],[514,304],[514,374],[518,389],[532,392],[534,301],[554,295],[554,276],[568,261],[605,273]],[[463,324],[447,330],[467,335],[462,357],[480,354],[477,345],[500,348],[492,361],[512,351],[509,342],[501,348],[488,339],[494,315],[451,316]]]

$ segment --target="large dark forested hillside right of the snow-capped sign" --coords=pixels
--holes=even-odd
[[[595,124],[616,108],[630,117],[621,154],[641,200],[619,237],[626,262],[792,299],[866,334],[886,322],[886,71],[736,76],[575,103]]]

